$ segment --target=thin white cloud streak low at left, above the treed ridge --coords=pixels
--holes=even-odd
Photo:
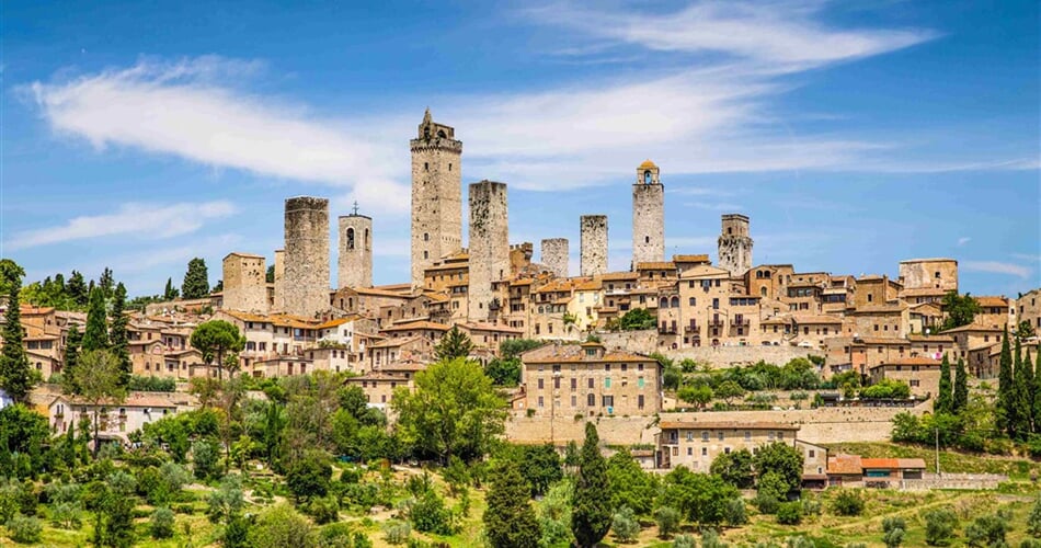
[[[9,249],[26,249],[102,236],[171,238],[194,232],[208,220],[236,213],[230,202],[180,203],[171,205],[123,204],[116,213],[75,217],[56,227],[15,233]]]

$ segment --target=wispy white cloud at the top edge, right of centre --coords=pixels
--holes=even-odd
[[[802,70],[868,57],[930,39],[925,30],[836,30],[815,18],[828,2],[700,1],[678,11],[645,13],[594,10],[588,4],[552,3],[527,10],[531,19],[603,41],[568,48],[569,55],[613,52],[637,45],[657,52],[723,54],[770,64],[775,70]]]

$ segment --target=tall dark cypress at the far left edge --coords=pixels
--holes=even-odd
[[[0,388],[15,401],[27,401],[36,375],[28,365],[28,356],[22,346],[25,330],[22,328],[22,313],[19,305],[19,292],[25,271],[10,259],[0,261],[0,283],[7,288],[8,309],[3,315],[4,323],[0,329],[3,349],[0,349]]]

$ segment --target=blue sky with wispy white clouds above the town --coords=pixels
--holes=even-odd
[[[285,197],[375,225],[409,277],[409,139],[430,106],[462,179],[510,185],[511,241],[666,185],[668,253],[896,274],[952,256],[962,290],[1041,285],[1033,1],[0,3],[4,256],[30,279],[111,266],[131,294],[273,256]],[[466,218],[466,215],[464,216]],[[335,239],[332,240],[333,249]],[[333,258],[334,260],[334,258]],[[333,270],[335,272],[335,270]]]

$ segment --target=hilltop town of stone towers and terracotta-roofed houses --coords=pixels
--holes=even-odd
[[[732,453],[756,455],[781,444],[801,458],[800,489],[976,492],[1009,479],[942,473],[939,430],[924,424],[968,404],[969,396],[960,404],[945,401],[956,369],[973,401],[1000,407],[994,402],[1007,388],[999,383],[1007,384],[1009,345],[1017,370],[1021,364],[1029,370],[1030,356],[1041,355],[1041,288],[969,295],[959,285],[958,261],[945,258],[907,258],[892,272],[869,275],[756,263],[754,212],[721,216],[714,258],[700,249],[668,256],[663,175],[650,160],[634,168],[630,269],[608,267],[608,226],[630,220],[590,213],[576,219],[580,264],[572,275],[569,240],[546,235],[538,256],[534,242],[511,242],[506,184],[471,183],[464,204],[464,147],[455,128],[427,111],[410,146],[411,269],[400,283],[373,284],[380,235],[357,207],[333,219],[327,198],[286,198],[283,249],[229,249],[215,290],[112,315],[110,329],[123,320],[136,383],[122,399],[92,401],[82,387],[69,388],[65,369],[82,351],[81,333],[91,330],[88,312],[13,302],[24,354],[41,380],[26,398],[31,408],[53,435],[75,437],[85,421],[95,450],[102,442],[134,450],[155,441],[159,421],[222,406],[215,403],[219,388],[199,388],[207,379],[242,378],[243,398],[286,402],[294,392],[285,387],[297,386],[286,379],[310,376],[356,390],[363,408],[386,418],[380,429],[392,431],[410,412],[396,399],[421,390],[424,372],[447,362],[445,349],[455,344],[465,349],[455,357],[478,364],[501,397],[496,437],[519,447],[564,455],[588,441],[592,424],[607,454],[628,455],[649,473],[680,467],[717,473],[714,463]],[[5,300],[4,310],[11,305]],[[234,328],[238,344],[220,351],[227,354],[193,336],[217,321]],[[1027,432],[1018,438],[1010,432],[1004,448],[992,439],[970,447],[976,442],[968,427],[945,439],[945,448],[1027,456],[1032,448],[1014,447],[1041,435],[1032,433],[1039,425],[1031,426],[1031,416]],[[914,421],[924,441],[899,434],[894,421]],[[872,445],[917,447],[929,444],[933,430],[936,464],[928,449],[912,457]],[[156,443],[169,448],[171,442]],[[233,443],[222,438],[218,453],[238,450]],[[352,461],[390,458],[359,443],[352,437],[338,453]],[[426,449],[408,457],[424,454],[439,457]],[[1030,466],[1036,480],[1037,463]]]

